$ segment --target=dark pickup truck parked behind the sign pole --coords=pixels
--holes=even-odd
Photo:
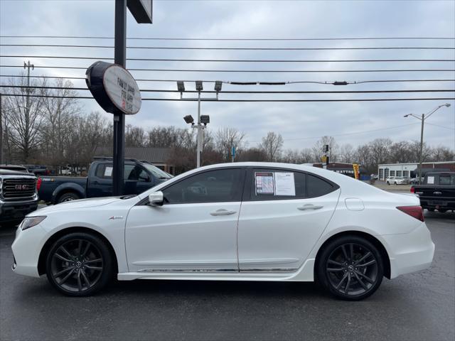
[[[124,195],[139,194],[171,178],[146,161],[125,159]],[[90,164],[88,176],[42,176],[36,184],[39,200],[58,204],[85,197],[109,197],[112,195],[112,158],[95,158]]]

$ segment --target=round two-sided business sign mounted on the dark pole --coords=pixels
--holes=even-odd
[[[124,67],[95,62],[85,72],[85,82],[102,109],[112,114],[133,115],[141,109],[141,92]]]

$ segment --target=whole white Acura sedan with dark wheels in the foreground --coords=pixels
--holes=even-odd
[[[63,202],[31,213],[13,270],[69,296],[119,280],[314,281],[360,300],[382,277],[430,266],[419,198],[332,171],[230,163],[136,196]]]

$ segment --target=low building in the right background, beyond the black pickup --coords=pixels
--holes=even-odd
[[[387,176],[406,176],[415,178],[419,169],[419,163],[384,163],[378,166],[379,180],[385,180]],[[455,161],[422,162],[422,175],[427,172],[455,172]]]

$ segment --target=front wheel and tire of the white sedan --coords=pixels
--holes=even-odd
[[[46,256],[50,284],[67,296],[90,296],[114,276],[113,255],[94,234],[73,232],[56,240]]]

